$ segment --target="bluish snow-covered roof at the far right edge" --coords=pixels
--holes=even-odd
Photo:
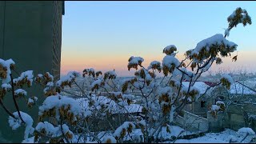
[[[234,84],[230,86],[230,94],[256,94],[256,92],[243,86],[239,82],[234,82]]]

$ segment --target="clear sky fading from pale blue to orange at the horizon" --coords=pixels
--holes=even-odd
[[[246,9],[252,25],[239,24],[230,31],[229,41],[238,44],[238,61],[225,58],[218,70],[256,72],[256,2],[90,2],[66,1],[62,16],[61,74],[86,68],[115,70],[118,76],[128,71],[130,56],[144,58],[143,66],[162,62],[165,46],[178,48],[178,59],[186,50],[214,34],[224,34],[227,17],[237,7]]]

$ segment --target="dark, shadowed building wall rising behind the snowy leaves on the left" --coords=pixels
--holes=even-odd
[[[57,13],[55,13],[57,12]],[[54,1],[1,1],[0,2],[0,58],[12,58],[17,78],[26,70],[34,76],[50,72],[59,77],[62,35],[62,2]],[[55,50],[55,51],[54,51]],[[54,52],[53,52],[54,51]],[[54,69],[53,69],[54,68]],[[45,99],[42,87],[33,84],[24,89],[28,96],[38,97],[38,105]],[[16,111],[11,95],[3,99],[6,107]],[[26,100],[18,99],[21,111],[37,122],[38,106],[29,109]],[[0,142],[22,142],[24,128],[11,130],[6,112],[0,107]]]

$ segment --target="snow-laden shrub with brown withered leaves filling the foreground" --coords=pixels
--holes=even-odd
[[[142,57],[131,56],[127,68],[136,71],[133,78],[127,78],[123,82],[118,81],[114,70],[103,74],[102,71],[95,71],[93,68],[85,69],[82,76],[90,78],[89,91],[83,90],[76,82],[76,78],[80,76],[76,71],[71,71],[55,81],[48,72],[38,74],[34,78],[32,70],[25,71],[13,79],[11,70],[14,70],[15,63],[11,59],[0,59],[0,78],[3,82],[0,89],[0,104],[10,115],[10,126],[14,130],[23,124],[26,126],[24,142],[28,141],[29,135],[34,135],[34,142],[41,142],[44,138],[46,142],[80,142],[81,137],[84,138],[83,142],[123,142],[127,135],[131,139],[136,138],[130,136],[135,130],[141,131],[142,138],[139,139],[143,142],[158,142],[162,130],[170,133],[174,116],[179,114],[184,106],[195,102],[199,90],[194,87],[194,82],[209,70],[214,62],[221,64],[222,58],[237,50],[238,45],[226,39],[230,30],[238,23],[243,23],[244,26],[251,24],[250,16],[241,8],[230,15],[228,22],[229,28],[225,36],[214,34],[198,42],[194,49],[186,51],[186,58],[182,61],[176,58],[178,49],[174,45],[166,46],[162,50],[166,54],[162,62],[150,62],[147,68],[142,64]],[[159,81],[157,73],[162,73],[165,77]],[[167,77],[169,79],[164,81]],[[30,95],[26,94],[23,86],[32,86],[33,80],[43,86],[46,96],[42,106],[39,106],[39,118],[35,128],[32,127],[33,119],[18,109],[15,100],[17,96],[26,98]],[[183,86],[183,81],[188,81],[189,85]],[[230,76],[223,75],[216,86],[222,84],[229,89],[232,82]],[[78,86],[81,93],[70,96],[82,97],[81,101],[62,95],[62,92],[66,92],[66,87],[73,84]],[[140,115],[130,114],[129,111],[129,106],[133,106],[135,102],[134,96],[130,94],[130,91],[134,90],[141,94],[140,105],[135,111]],[[2,102],[2,98],[8,92],[13,94],[17,112],[11,113]],[[27,105],[34,106],[37,99],[28,98]],[[223,110],[225,104],[220,101],[210,106],[210,112],[214,115]],[[127,116],[124,122],[121,120],[122,114]],[[98,122],[110,126],[110,136],[99,136],[99,132],[105,129]]]

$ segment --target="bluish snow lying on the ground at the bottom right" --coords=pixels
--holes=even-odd
[[[226,129],[220,133],[207,133],[206,135],[192,139],[178,139],[175,143],[229,143],[230,135],[237,138],[238,142],[244,138],[243,135],[238,134],[237,131]],[[250,142],[255,135],[249,135],[242,143]],[[165,143],[169,143],[165,142]]]

